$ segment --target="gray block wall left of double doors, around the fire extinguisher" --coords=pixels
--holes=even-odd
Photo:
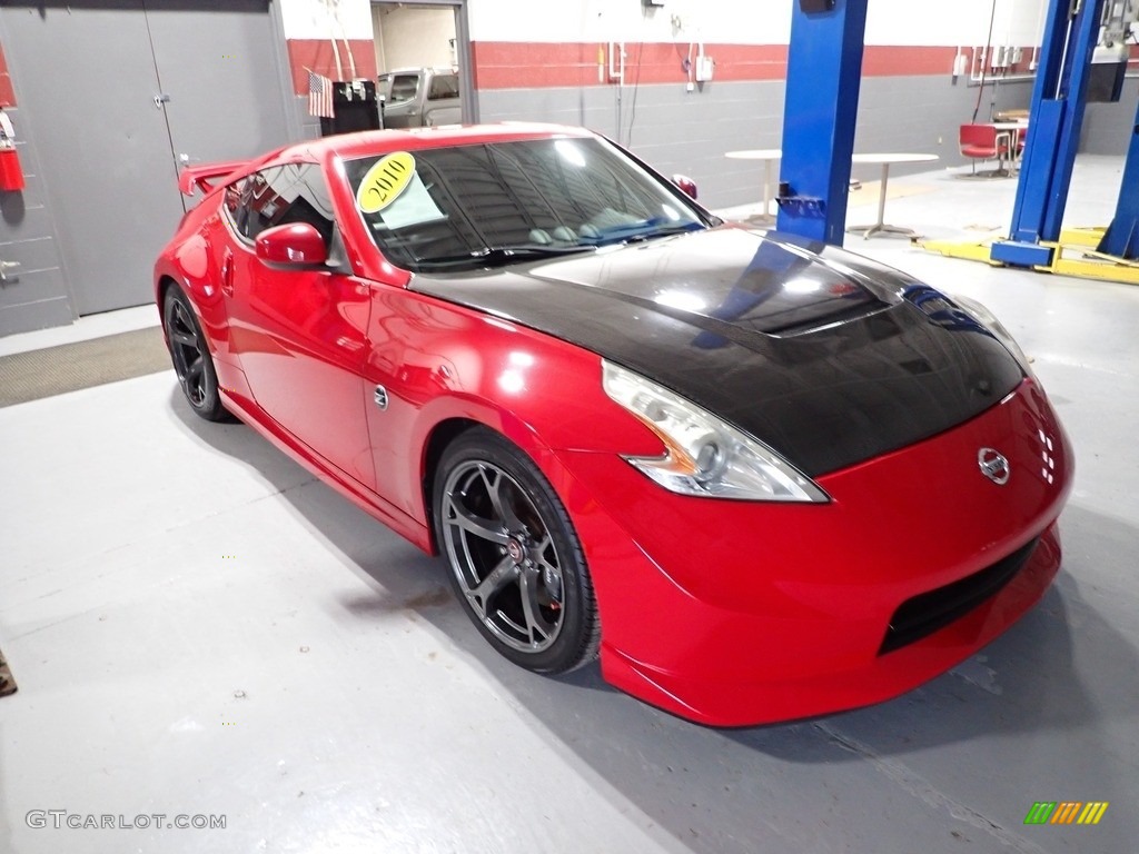
[[[35,129],[19,108],[5,112],[16,129],[26,188],[23,192],[0,192],[0,261],[19,263],[9,272],[9,282],[0,286],[0,335],[73,320],[56,224],[36,156]]]

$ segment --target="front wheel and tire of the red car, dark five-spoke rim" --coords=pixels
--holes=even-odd
[[[536,673],[592,660],[600,626],[581,543],[530,458],[472,428],[443,452],[433,494],[452,585],[490,644]]]

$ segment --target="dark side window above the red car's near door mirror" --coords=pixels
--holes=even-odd
[[[244,182],[227,189],[224,204],[237,233],[249,241],[267,228],[292,222],[308,222],[320,232],[325,243],[333,239],[328,187],[320,167],[313,163],[292,163],[254,172]]]

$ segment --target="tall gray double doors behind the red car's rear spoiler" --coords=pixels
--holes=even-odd
[[[0,16],[77,313],[149,302],[183,211],[178,164],[287,141],[268,2],[6,2]]]

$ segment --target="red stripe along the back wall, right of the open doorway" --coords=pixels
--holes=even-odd
[[[608,84],[607,44],[596,42],[474,42],[476,89],[541,89]],[[714,80],[784,80],[786,44],[705,44],[715,60]],[[689,46],[669,42],[625,43],[625,83],[683,83]],[[693,51],[695,57],[695,50]],[[953,73],[952,47],[867,46],[862,75],[867,77],[929,76]],[[970,51],[966,51],[970,56]],[[1024,61],[1007,73],[1027,71]]]

